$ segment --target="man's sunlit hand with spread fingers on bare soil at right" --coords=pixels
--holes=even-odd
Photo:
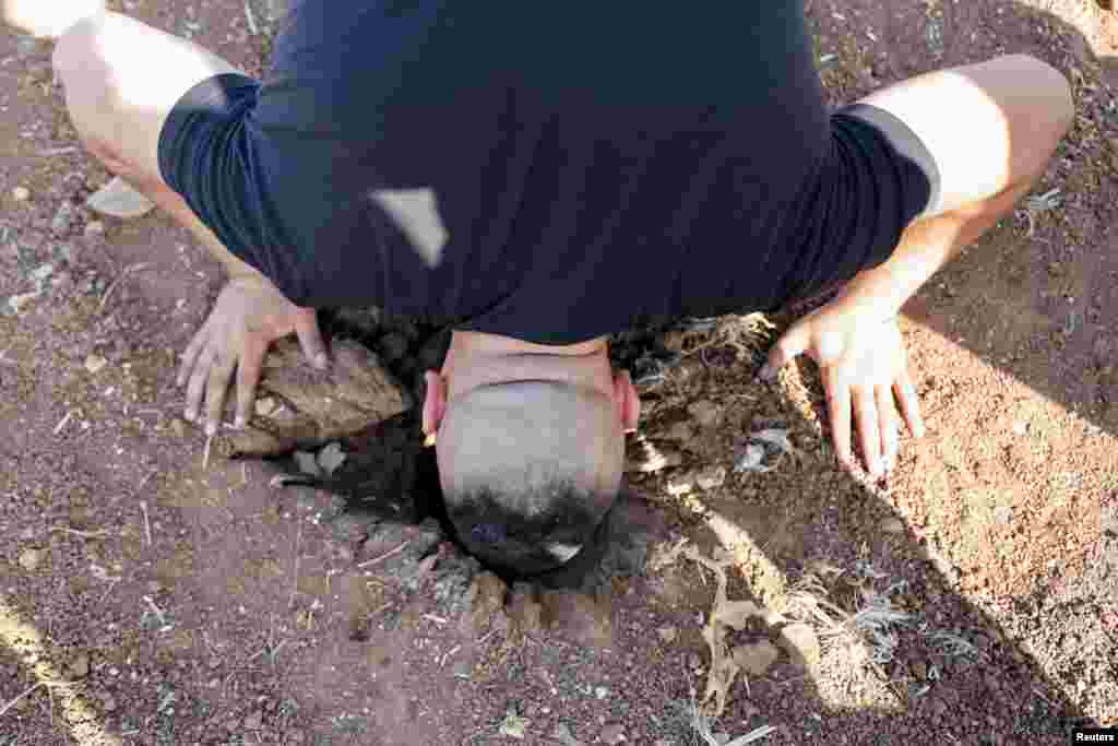
[[[853,409],[868,471],[881,476],[891,470],[900,447],[894,394],[909,432],[923,435],[897,317],[840,295],[793,324],[777,340],[758,377],[771,380],[785,363],[805,352],[819,366],[839,460],[853,462]]]

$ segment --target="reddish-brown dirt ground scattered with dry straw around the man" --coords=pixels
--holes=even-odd
[[[0,36],[0,746],[1118,726],[1118,19],[1088,0],[807,4],[833,103],[1027,51],[1073,82],[1074,130],[1035,199],[906,308],[929,433],[888,480],[834,464],[809,363],[750,383],[790,314],[618,338],[644,471],[600,569],[565,591],[506,588],[435,521],[273,487],[290,463],[207,459],[173,376],[218,267],[158,213],[91,214],[110,174],[66,121],[50,45]],[[249,70],[274,28],[263,2],[126,6]],[[437,363],[430,330],[378,329],[411,385]],[[418,500],[415,435],[405,415],[347,442],[351,491]],[[719,574],[764,608],[727,622]],[[707,626],[746,671],[710,718]]]

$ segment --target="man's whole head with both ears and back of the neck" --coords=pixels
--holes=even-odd
[[[572,558],[613,504],[638,414],[605,340],[548,348],[456,333],[442,374],[428,374],[424,431],[437,432],[459,540],[521,575]]]

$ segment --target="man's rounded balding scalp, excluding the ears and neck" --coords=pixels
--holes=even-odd
[[[438,469],[459,539],[517,574],[567,561],[613,504],[624,438],[614,399],[589,386],[487,384],[448,403]]]

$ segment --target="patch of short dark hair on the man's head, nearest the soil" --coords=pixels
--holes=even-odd
[[[552,480],[525,490],[484,485],[443,497],[463,547],[499,574],[528,579],[594,551],[616,494]]]

